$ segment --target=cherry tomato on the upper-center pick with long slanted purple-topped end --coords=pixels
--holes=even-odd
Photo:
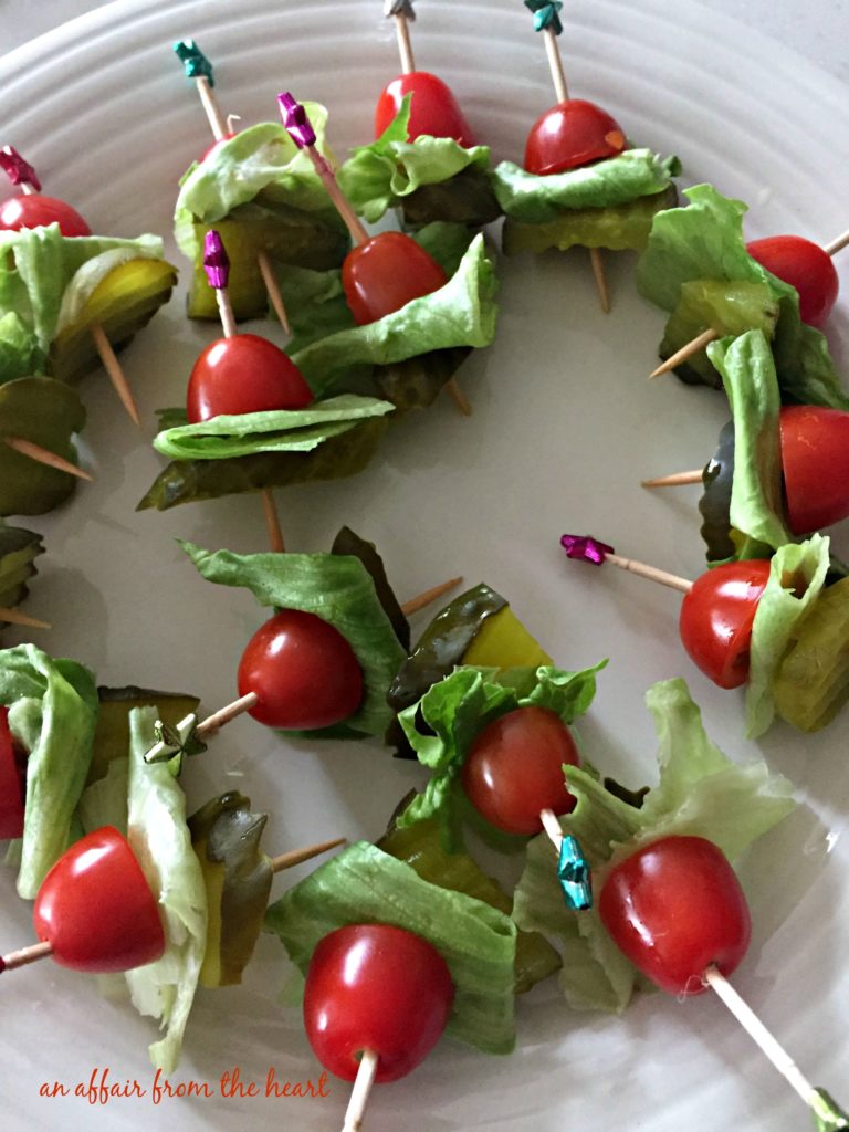
[[[381,232],[345,256],[342,286],[358,326],[376,323],[447,280],[439,264],[403,232]]]

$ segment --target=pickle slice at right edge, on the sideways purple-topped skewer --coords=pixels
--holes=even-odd
[[[849,700],[849,578],[823,590],[803,618],[772,695],[800,731],[821,730]]]

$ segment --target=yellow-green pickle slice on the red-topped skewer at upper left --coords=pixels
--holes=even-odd
[[[94,289],[77,321],[57,334],[48,368],[60,381],[78,381],[100,366],[91,328],[100,325],[114,350],[127,345],[171,298],[177,269],[163,259],[130,259]]]

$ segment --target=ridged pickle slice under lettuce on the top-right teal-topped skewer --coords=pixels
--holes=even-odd
[[[662,192],[606,208],[572,208],[555,220],[533,224],[508,216],[501,232],[507,256],[530,251],[541,255],[549,248],[607,248],[610,251],[642,251],[649,242],[652,221],[658,212],[671,208],[678,199],[674,185]]]

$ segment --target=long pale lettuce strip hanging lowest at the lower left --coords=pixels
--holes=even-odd
[[[165,1036],[149,1046],[151,1061],[170,1077],[180,1060],[183,1030],[206,951],[206,887],[186,824],[186,797],[169,763],[145,763],[155,741],[155,707],[130,713],[128,840],[158,897],[165,952],[127,971],[132,1004],[160,1019]]]

